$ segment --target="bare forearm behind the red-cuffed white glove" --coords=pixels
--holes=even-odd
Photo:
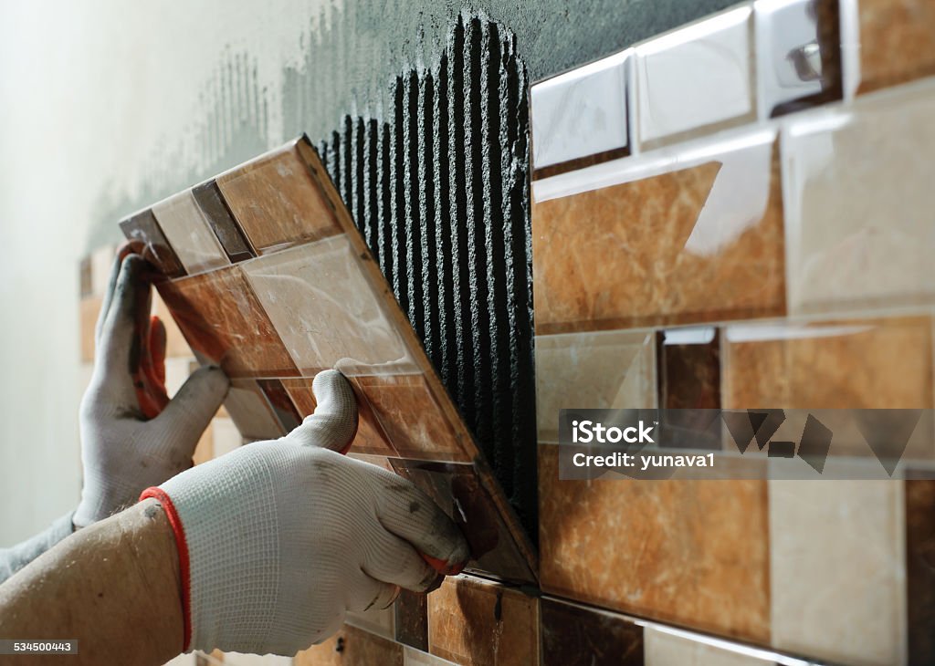
[[[182,635],[179,558],[153,500],[76,532],[0,585],[0,637],[78,639],[76,664],[155,666],[179,654]]]

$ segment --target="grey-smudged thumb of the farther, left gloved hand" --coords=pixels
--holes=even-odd
[[[221,368],[208,366],[194,371],[162,414],[152,422],[173,443],[176,455],[191,457],[211,418],[221,406],[230,380]]]

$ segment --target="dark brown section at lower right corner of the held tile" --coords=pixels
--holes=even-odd
[[[482,570],[517,582],[534,582],[522,548],[504,521],[506,507],[496,504],[487,481],[475,466],[451,462],[391,459],[398,475],[422,489],[458,525],[471,549],[468,568]]]

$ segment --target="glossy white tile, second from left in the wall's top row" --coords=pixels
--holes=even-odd
[[[637,46],[641,145],[754,120],[751,13],[740,7]]]

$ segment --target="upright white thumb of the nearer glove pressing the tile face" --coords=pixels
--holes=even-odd
[[[311,384],[315,411],[289,438],[300,446],[345,452],[357,432],[357,402],[351,383],[337,370],[325,370]]]

